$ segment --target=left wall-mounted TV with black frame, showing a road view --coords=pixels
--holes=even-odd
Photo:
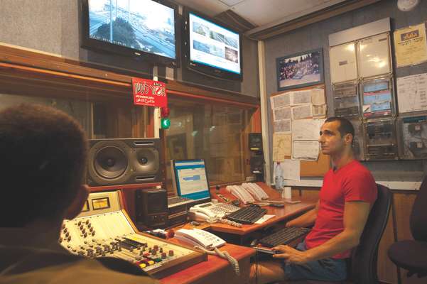
[[[82,0],[82,47],[177,67],[177,16],[163,0]]]

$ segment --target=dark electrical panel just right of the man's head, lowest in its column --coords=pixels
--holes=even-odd
[[[398,158],[395,119],[365,121],[364,137],[366,160],[394,160]]]

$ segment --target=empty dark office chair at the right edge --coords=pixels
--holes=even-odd
[[[408,277],[427,276],[427,177],[421,183],[409,219],[414,240],[398,241],[389,248],[389,258],[408,271]]]

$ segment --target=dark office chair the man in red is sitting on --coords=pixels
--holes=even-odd
[[[378,245],[387,224],[391,207],[391,192],[388,187],[378,185],[378,197],[364,226],[359,246],[352,251],[349,261],[349,277],[340,283],[377,284]],[[299,280],[292,284],[326,284],[326,281]],[[331,282],[337,283],[337,282]]]

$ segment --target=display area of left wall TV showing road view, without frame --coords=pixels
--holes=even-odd
[[[89,0],[89,38],[175,59],[175,11],[151,0]]]

